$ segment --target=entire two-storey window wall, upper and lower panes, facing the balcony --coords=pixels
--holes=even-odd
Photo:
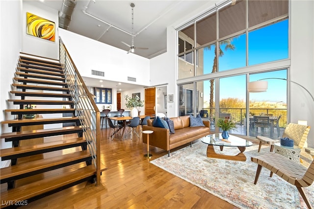
[[[252,115],[272,112],[284,128],[287,83],[269,81],[267,93],[255,94],[248,93],[247,83],[287,78],[288,34],[288,0],[222,3],[178,29],[178,43],[184,45],[178,51],[179,115],[200,114],[217,132],[215,118],[230,114],[238,127],[233,133],[254,136]],[[271,137],[277,137],[273,121]]]

